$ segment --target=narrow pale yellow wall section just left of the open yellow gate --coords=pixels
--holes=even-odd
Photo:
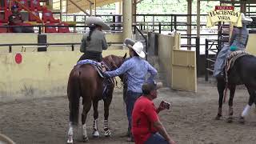
[[[171,84],[171,55],[174,47],[174,36],[159,34],[158,37],[158,57],[159,66],[166,75],[167,86]]]

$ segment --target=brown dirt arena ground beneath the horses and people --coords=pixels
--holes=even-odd
[[[171,102],[171,110],[162,111],[160,118],[169,134],[180,144],[254,144],[256,142],[256,114],[250,110],[246,124],[238,122],[238,116],[246,106],[246,90],[237,90],[234,98],[234,122],[227,123],[228,106],[223,106],[222,120],[214,120],[218,111],[218,93],[214,83],[199,82],[198,93],[160,90],[154,101],[158,106],[161,100]],[[103,134],[103,110],[99,104],[99,130]],[[126,142],[126,114],[122,102],[122,92],[114,94],[110,106],[111,138],[92,138],[93,112],[87,119],[90,142],[120,144]],[[0,103],[0,132],[8,135],[18,144],[63,144],[66,143],[68,128],[68,100],[66,96],[38,98],[16,102]],[[81,144],[81,126],[75,133],[76,143]]]

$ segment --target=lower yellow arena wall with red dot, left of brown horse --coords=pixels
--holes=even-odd
[[[127,50],[106,50],[103,56],[123,56]],[[0,102],[16,98],[66,95],[70,70],[78,61],[78,51],[26,52],[22,63],[15,53],[0,54]],[[120,84],[120,83],[119,83]]]

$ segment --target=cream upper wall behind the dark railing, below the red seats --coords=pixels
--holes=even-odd
[[[82,34],[67,33],[67,34],[46,34],[48,43],[79,43],[82,39]],[[106,34],[107,42],[122,42],[122,33],[118,34]],[[38,43],[38,34],[14,34],[6,33],[0,34],[0,44],[6,43]],[[111,46],[110,49],[120,49],[120,46]],[[35,52],[38,48],[34,46],[28,46],[26,52]],[[71,46],[49,46],[48,51],[66,51],[71,50]],[[75,50],[79,50],[79,46],[75,47]],[[22,46],[13,46],[13,52],[24,52]],[[9,53],[8,46],[0,46],[0,53]]]

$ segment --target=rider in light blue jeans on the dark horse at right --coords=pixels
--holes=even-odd
[[[234,26],[230,38],[230,45],[224,45],[222,50],[219,51],[217,59],[214,63],[214,77],[224,78],[223,69],[226,64],[226,57],[234,50],[245,50],[248,42],[249,31],[246,25],[252,22],[252,18],[242,15],[242,27]],[[231,50],[231,51],[230,51]]]

